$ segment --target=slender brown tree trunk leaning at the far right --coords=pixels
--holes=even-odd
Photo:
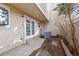
[[[71,20],[71,15],[70,15],[69,12],[68,12],[68,16],[69,16],[69,20],[70,20],[70,24],[71,24],[71,39],[73,41],[73,45],[74,45],[74,48],[75,48],[75,54],[79,55],[78,43],[77,43],[77,39],[75,38],[75,27],[74,27],[74,24],[73,24],[73,22]]]

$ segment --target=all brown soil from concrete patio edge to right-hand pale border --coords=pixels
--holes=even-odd
[[[58,46],[52,45],[53,41],[56,41]],[[57,37],[45,40],[43,45],[39,49],[35,50],[30,56],[35,56],[40,49],[42,50],[41,52],[44,50],[48,51],[51,56],[66,56],[65,51],[60,43],[60,38]]]

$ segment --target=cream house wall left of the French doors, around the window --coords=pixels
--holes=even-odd
[[[24,43],[24,18],[22,18],[24,14],[7,5],[0,4],[0,6],[6,7],[10,13],[9,25],[0,26],[0,53],[3,53]],[[32,20],[29,16],[27,18]],[[24,39],[21,40],[21,38]]]

